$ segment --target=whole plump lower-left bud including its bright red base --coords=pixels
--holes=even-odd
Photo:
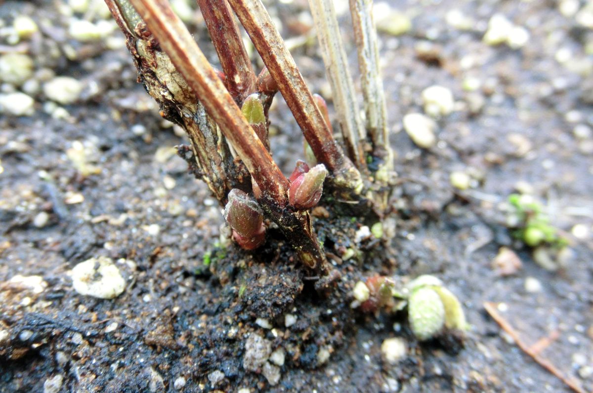
[[[237,188],[228,193],[224,218],[233,229],[232,237],[242,248],[253,250],[263,244],[266,235],[263,212],[246,193]]]

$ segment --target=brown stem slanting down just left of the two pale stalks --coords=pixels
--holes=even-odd
[[[362,189],[360,172],[343,154],[305,85],[297,65],[260,0],[229,0],[268,71],[278,84],[315,157],[331,171],[339,186]]]

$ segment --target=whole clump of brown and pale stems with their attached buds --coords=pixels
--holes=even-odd
[[[386,207],[391,150],[371,0],[350,0],[368,103],[366,124],[360,119],[333,3],[310,0],[345,151],[334,139],[325,101],[305,85],[260,0],[197,0],[221,70],[206,60],[167,0],[105,1],[126,36],[139,80],[160,104],[161,115],[186,130],[191,149],[180,149],[180,154],[225,206],[235,241],[248,250],[259,247],[266,220],[273,221],[302,263],[326,276],[326,258],[308,212],[319,202],[324,184],[350,202],[368,198],[378,211]],[[259,75],[235,15],[265,65]],[[317,164],[309,168],[298,162],[290,178],[269,152],[267,113],[278,91]],[[370,169],[369,162],[380,164]]]

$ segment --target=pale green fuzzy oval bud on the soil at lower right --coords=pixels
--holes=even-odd
[[[439,334],[445,324],[445,307],[431,287],[420,287],[408,301],[408,320],[414,336],[420,341]]]

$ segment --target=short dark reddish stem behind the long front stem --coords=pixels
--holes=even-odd
[[[225,74],[225,85],[238,105],[255,91],[256,74],[227,0],[197,0]]]

